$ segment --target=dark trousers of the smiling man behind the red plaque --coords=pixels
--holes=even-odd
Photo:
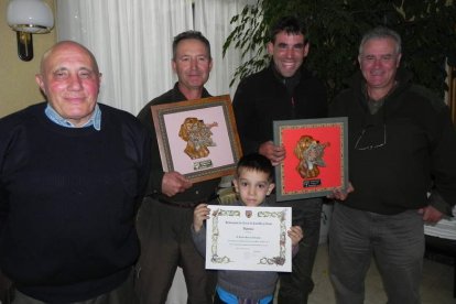
[[[278,202],[275,206],[292,207],[293,224],[303,229],[304,238],[293,258],[292,272],[280,273],[279,304],[305,304],[314,289],[312,270],[319,242],[322,198]]]

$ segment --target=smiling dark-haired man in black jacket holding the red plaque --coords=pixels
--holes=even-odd
[[[272,122],[327,116],[324,85],[304,68],[308,53],[305,28],[300,20],[285,17],[271,29],[269,67],[243,79],[236,91],[234,110],[243,153],[259,152],[273,165],[285,155],[274,145]],[[293,225],[301,225],[304,239],[293,260],[293,272],[280,279],[279,303],[307,303],[314,287],[312,269],[319,241],[322,198],[278,203],[293,207]]]

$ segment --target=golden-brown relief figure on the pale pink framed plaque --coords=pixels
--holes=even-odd
[[[181,124],[178,135],[187,142],[184,152],[192,160],[206,158],[210,153],[207,146],[217,145],[211,139],[210,128],[213,127],[218,127],[218,123],[206,124],[195,117],[187,117]]]

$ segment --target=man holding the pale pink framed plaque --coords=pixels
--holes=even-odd
[[[193,209],[207,203],[217,191],[219,178],[193,184],[180,172],[164,172],[152,120],[151,106],[210,97],[204,85],[213,67],[210,45],[199,32],[187,31],[174,37],[173,69],[178,82],[156,97],[138,115],[152,137],[151,183],[138,215],[141,257],[137,291],[141,303],[165,303],[177,267],[182,267],[188,303],[211,303],[215,280],[205,270],[203,257],[193,245],[189,227]]]

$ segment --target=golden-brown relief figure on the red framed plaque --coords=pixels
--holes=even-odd
[[[318,176],[318,166],[326,166],[323,155],[329,143],[319,143],[311,135],[302,135],[294,148],[294,154],[300,160],[296,171],[303,178]]]

